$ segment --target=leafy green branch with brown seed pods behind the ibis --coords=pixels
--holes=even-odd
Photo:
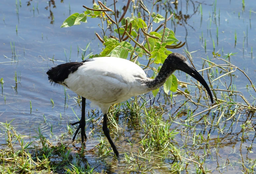
[[[116,1],[114,0],[114,10],[107,7],[107,5],[101,1],[98,1],[98,4],[93,4],[93,8],[83,6],[86,8],[84,13],[72,14],[63,22],[61,27],[79,25],[81,22],[86,23],[87,17],[99,18],[102,22],[102,26],[99,24],[103,31],[103,33],[101,33],[102,37],[98,33],[95,34],[99,41],[103,44],[104,48],[102,48],[102,51],[98,54],[91,54],[89,58],[113,56],[126,59],[128,57],[128,53],[130,53],[129,57],[131,61],[143,66],[143,69],[150,68],[155,74],[157,74],[157,72],[161,69],[160,65],[163,64],[167,56],[172,53],[167,49],[178,49],[185,45],[185,42],[182,43],[177,40],[174,32],[166,27],[167,21],[172,19],[173,14],[167,17],[168,11],[166,11],[165,17],[163,17],[162,15],[153,12],[154,6],[158,2],[160,2],[160,0],[154,2],[151,12],[149,12],[142,1],[139,2],[142,10],[149,14],[149,16],[144,17],[148,20],[148,25],[142,19],[140,12],[138,12],[137,16],[134,15],[136,8],[134,1],[132,1],[133,10],[131,11],[131,16],[125,17],[129,9],[130,0],[127,1],[124,12],[118,19],[116,14]],[[107,12],[111,13],[107,14]],[[113,15],[115,19],[112,19]],[[103,28],[105,21],[107,25],[106,30]],[[163,23],[157,25],[156,29],[152,31],[152,27],[161,21],[163,21]],[[148,29],[149,26],[151,26],[151,30]],[[163,29],[160,30],[162,26]],[[108,37],[106,36],[106,31],[110,27],[115,28],[113,30],[118,37],[115,35],[109,35]],[[140,31],[143,33],[144,37],[139,37]],[[138,57],[142,56],[146,56],[146,58],[149,60],[147,65],[141,65],[138,62]],[[153,63],[155,65],[159,65],[157,69],[150,67]],[[169,90],[173,92],[177,90],[177,85],[173,85],[177,84],[177,79],[175,79],[176,77],[173,75],[171,79],[166,81],[164,85],[165,93],[168,93]],[[172,85],[174,88],[171,87]]]

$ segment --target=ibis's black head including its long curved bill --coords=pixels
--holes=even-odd
[[[202,78],[202,76],[197,72],[197,70],[189,64],[189,62],[183,55],[179,53],[171,53],[166,58],[165,62],[168,63],[172,69],[183,71],[192,76],[197,81],[199,81],[207,90],[211,98],[211,102],[213,103],[212,93],[207,83]]]

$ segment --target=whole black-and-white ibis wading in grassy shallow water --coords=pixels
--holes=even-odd
[[[71,125],[79,123],[73,141],[80,128],[82,142],[87,138],[85,133],[85,99],[87,98],[91,100],[91,105],[101,109],[103,132],[115,155],[118,156],[118,150],[107,127],[107,113],[110,106],[158,89],[175,70],[181,70],[199,81],[207,90],[213,103],[211,91],[205,80],[179,53],[168,55],[155,79],[147,78],[137,64],[117,57],[96,57],[83,62],[64,63],[51,68],[47,74],[51,83],[63,85],[82,96],[81,120],[71,123]]]

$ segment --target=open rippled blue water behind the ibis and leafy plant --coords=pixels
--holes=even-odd
[[[77,95],[70,90],[66,91],[68,107],[65,107],[64,88],[51,86],[46,72],[50,67],[66,62],[66,60],[69,61],[69,59],[70,61],[81,61],[81,50],[78,54],[77,47],[85,49],[88,43],[91,43],[91,52],[94,54],[99,53],[101,44],[98,47],[99,40],[95,38],[94,32],[101,32],[101,29],[97,26],[100,20],[88,18],[88,23],[86,24],[82,23],[80,26],[60,28],[62,22],[70,14],[75,12],[82,13],[84,11],[82,5],[91,7],[92,1],[64,0],[61,3],[59,0],[55,2],[56,8],[53,8],[53,6],[50,8],[48,1],[45,0],[31,1],[30,6],[27,6],[27,2],[22,0],[21,7],[19,6],[19,1],[17,2],[18,10],[16,1],[0,1],[0,78],[4,80],[3,93],[0,92],[2,94],[0,96],[0,122],[10,122],[14,119],[12,125],[16,127],[20,134],[24,135],[36,134],[35,130],[40,126],[45,131],[44,136],[53,137],[57,142],[61,137],[61,133],[67,132],[67,124],[69,122],[76,122],[77,117],[80,118],[81,110],[77,105],[76,99],[72,98],[77,97]],[[198,69],[202,68],[203,61],[200,57],[207,59],[208,56],[211,61],[218,62],[212,58],[213,39],[215,52],[219,52],[221,55],[223,55],[222,49],[224,54],[237,52],[235,56],[231,56],[230,62],[243,69],[255,84],[256,61],[254,59],[254,52],[251,53],[251,47],[255,51],[256,3],[254,0],[248,0],[245,2],[245,8],[243,9],[241,0],[217,1],[215,18],[213,17],[214,2],[214,0],[180,0],[177,6],[169,4],[169,8],[175,11],[177,15],[175,19],[176,24],[168,23],[167,27],[175,31],[177,39],[186,41],[185,47],[189,52],[196,51],[192,53],[192,56],[193,62]],[[151,6],[151,3],[149,1],[147,3],[148,6]],[[200,13],[200,3],[202,3],[202,16]],[[119,2],[120,7],[123,7],[125,4],[126,2]],[[48,7],[47,10],[45,9],[46,7]],[[159,7],[159,13],[164,14],[164,8],[164,6]],[[250,9],[251,19],[249,19]],[[238,17],[238,12],[240,17]],[[209,28],[210,18],[212,19],[211,28]],[[216,36],[217,27],[218,42]],[[236,45],[235,32],[237,33]],[[244,38],[244,33],[248,37]],[[200,39],[202,34],[203,38]],[[206,41],[206,51],[204,49],[204,41]],[[15,48],[16,56],[12,53],[10,42],[13,49]],[[175,52],[182,53],[183,49],[175,50]],[[86,54],[90,51],[88,49]],[[54,62],[50,60],[53,57]],[[20,83],[18,80],[17,89],[15,89],[15,71],[17,72],[17,77],[20,76]],[[176,73],[175,75],[180,81],[186,81],[184,74]],[[235,75],[234,84],[236,89],[242,91],[248,100],[253,103],[254,97],[251,94],[254,95],[255,93],[251,89],[247,90],[246,84],[249,84],[248,79],[239,72],[235,73]],[[214,87],[217,87],[217,85],[214,85]],[[220,85],[220,88],[224,88],[224,86]],[[193,95],[193,93],[191,94]],[[54,101],[54,105],[51,104],[51,98]],[[177,105],[172,109],[169,108],[170,113],[174,113],[176,108],[179,107],[179,101],[182,103],[183,100],[183,96],[177,96]],[[32,109],[30,109],[30,101]],[[94,110],[94,108],[90,108],[89,103],[87,103],[87,113],[91,109]],[[74,115],[72,108],[77,117]],[[98,110],[95,110],[95,112],[96,116],[100,115]],[[62,119],[60,119],[60,114]],[[44,122],[43,115],[47,122]],[[53,127],[52,132],[54,135],[50,133],[51,127]],[[89,132],[90,128],[87,128],[86,131]],[[100,135],[101,132],[98,132],[98,134],[94,135],[94,138],[87,141],[88,149],[98,144],[98,137]],[[217,137],[218,135],[215,132],[211,136]],[[233,138],[228,136],[223,136],[223,141],[228,141],[226,146],[224,144],[220,147],[225,155],[233,152],[236,148],[234,146],[240,146],[236,145],[236,143],[231,143],[230,141]],[[65,134],[64,141],[69,142],[71,138],[72,135]],[[0,143],[4,142],[4,136],[1,136]],[[126,143],[125,141],[123,143],[120,142],[119,146],[127,146]],[[233,158],[236,158],[236,155]],[[239,161],[240,158],[237,157],[234,160]],[[93,163],[93,158],[88,156],[88,161]],[[216,168],[217,164],[209,163],[208,165],[208,168],[212,167],[213,169]]]

